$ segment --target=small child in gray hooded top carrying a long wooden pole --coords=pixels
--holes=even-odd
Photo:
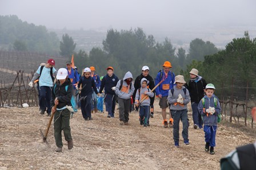
[[[150,98],[154,97],[154,93],[150,92],[151,90],[147,88],[147,79],[142,78],[141,79],[141,88],[139,88],[135,95],[135,105],[139,106],[139,123],[140,125],[143,125],[144,127],[150,126],[149,125],[149,114],[150,114]],[[144,98],[141,103],[139,101]]]

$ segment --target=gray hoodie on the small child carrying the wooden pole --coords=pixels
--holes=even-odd
[[[139,102],[139,100],[141,100],[144,96],[145,96],[145,92],[146,92],[146,95],[149,96],[149,97],[154,97],[154,93],[153,92],[150,92],[151,90],[148,89],[147,87],[146,88],[142,88],[142,82],[143,81],[147,81],[146,78],[142,78],[141,79],[141,88],[139,88],[136,92],[136,96],[135,96],[135,103],[137,104]],[[139,92],[140,90],[140,92]],[[149,106],[150,105],[150,98],[147,97],[145,100],[143,100],[141,102],[141,106]]]

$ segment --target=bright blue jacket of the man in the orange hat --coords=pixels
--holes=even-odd
[[[164,78],[166,78],[165,73],[162,72],[162,78],[161,80],[163,80]],[[157,73],[157,78],[155,78],[155,85],[157,85],[161,80],[160,80],[160,76],[161,76],[161,72]],[[159,94],[162,94],[162,97],[168,96],[168,92],[170,89],[173,88],[174,86],[174,81],[175,81],[175,74],[173,72],[168,72],[167,74],[167,78],[165,79],[165,81],[163,81],[156,89],[155,89],[155,94],[158,96]],[[163,89],[163,85],[169,85],[169,89]]]

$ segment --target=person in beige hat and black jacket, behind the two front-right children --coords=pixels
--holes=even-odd
[[[192,107],[192,115],[193,115],[193,122],[194,128],[202,128],[202,117],[198,112],[198,103],[204,96],[204,89],[207,85],[205,79],[201,76],[198,76],[198,70],[193,68],[191,69],[190,73],[190,81],[187,89],[190,93],[191,98],[191,107]]]

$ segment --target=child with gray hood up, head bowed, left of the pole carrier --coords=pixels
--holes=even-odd
[[[118,96],[119,103],[119,120],[120,125],[129,125],[129,111],[131,106],[131,96],[134,93],[133,75],[127,72],[123,80],[117,82],[115,94]]]

